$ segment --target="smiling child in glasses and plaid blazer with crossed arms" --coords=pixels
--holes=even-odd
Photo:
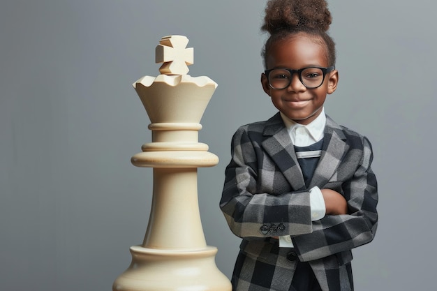
[[[336,90],[324,0],[270,0],[262,89],[279,110],[232,137],[220,207],[242,237],[233,290],[353,290],[351,249],[378,214],[366,137],[324,112]]]

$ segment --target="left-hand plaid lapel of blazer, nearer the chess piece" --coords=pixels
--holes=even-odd
[[[267,121],[263,134],[266,139],[262,142],[262,147],[279,167],[292,189],[304,190],[304,176],[297,162],[295,148],[279,113]]]

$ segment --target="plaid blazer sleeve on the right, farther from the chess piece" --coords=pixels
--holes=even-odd
[[[327,215],[313,221],[311,233],[293,237],[301,260],[324,258],[373,240],[378,226],[378,187],[371,170],[371,144],[366,137],[362,137],[362,147],[362,157],[352,178],[343,181],[341,188],[333,188],[346,198],[349,214]]]

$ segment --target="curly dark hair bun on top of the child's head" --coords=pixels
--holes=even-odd
[[[270,34],[283,29],[327,31],[331,22],[325,0],[269,0],[261,29]]]

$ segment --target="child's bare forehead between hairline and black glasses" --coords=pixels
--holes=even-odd
[[[306,66],[327,66],[327,54],[323,40],[304,33],[290,36],[274,43],[267,55],[267,69]]]

